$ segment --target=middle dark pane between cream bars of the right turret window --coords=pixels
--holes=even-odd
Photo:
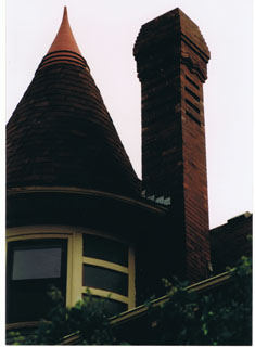
[[[128,295],[128,275],[114,270],[84,265],[84,285]]]

